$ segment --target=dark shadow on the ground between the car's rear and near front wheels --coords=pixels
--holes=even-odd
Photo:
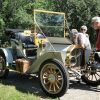
[[[17,72],[10,71],[7,79],[0,79],[0,83],[4,85],[15,86],[15,88],[23,93],[30,93],[41,98],[48,98],[42,91],[39,80],[35,76],[21,75]]]

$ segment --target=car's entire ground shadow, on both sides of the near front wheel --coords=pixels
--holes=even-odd
[[[44,99],[50,99],[42,91],[39,84],[39,80],[35,76],[30,77],[28,75],[21,75],[17,72],[10,71],[7,79],[0,79],[0,83],[4,85],[15,86],[15,88],[18,91],[21,91],[23,93],[30,93]],[[86,91],[100,92],[100,88],[97,89],[97,87],[91,87],[91,86],[86,85],[83,82],[79,83],[75,80],[70,81],[69,89],[80,89],[80,90],[86,90]]]

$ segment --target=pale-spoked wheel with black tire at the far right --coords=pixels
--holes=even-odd
[[[100,69],[95,69],[88,66],[81,79],[83,82],[90,86],[100,85]]]

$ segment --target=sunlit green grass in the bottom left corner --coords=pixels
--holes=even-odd
[[[39,96],[30,93],[22,93],[14,86],[0,83],[0,100],[40,100]]]

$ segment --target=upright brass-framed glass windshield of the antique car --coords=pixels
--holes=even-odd
[[[34,10],[34,22],[47,37],[64,37],[65,13]]]

